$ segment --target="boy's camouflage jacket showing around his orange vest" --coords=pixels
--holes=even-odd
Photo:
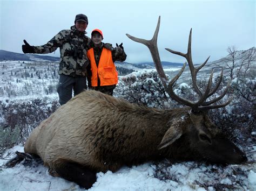
[[[94,57],[95,57],[95,62],[96,62],[96,65],[98,67],[99,65],[99,59],[100,59],[100,55],[102,54],[102,49],[104,48],[107,48],[111,51],[112,53],[112,60],[113,62],[115,61],[125,61],[126,60],[126,54],[124,52],[124,50],[122,48],[120,48],[119,46],[117,46],[116,48],[113,48],[112,44],[109,44],[109,43],[102,43],[102,45],[100,47],[94,47],[92,45],[92,48],[93,48],[93,53],[94,53]],[[89,48],[90,49],[90,48]],[[88,87],[91,87],[91,64],[89,63],[89,65],[87,66],[87,80],[88,80]],[[100,84],[100,81],[99,81],[99,77],[98,77],[98,84]],[[113,86],[105,86],[106,88],[113,88],[113,87],[116,87],[116,85],[113,85]]]

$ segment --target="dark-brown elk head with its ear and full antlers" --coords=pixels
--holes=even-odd
[[[232,100],[232,98],[230,98],[226,103],[214,104],[225,96],[227,89],[230,86],[230,82],[227,84],[223,94],[213,98],[212,100],[209,98],[215,93],[215,91],[217,91],[220,86],[223,77],[223,69],[221,70],[219,81],[213,89],[211,89],[213,70],[210,74],[210,78],[204,92],[198,87],[197,73],[206,64],[210,56],[198,68],[194,67],[191,56],[191,29],[186,54],[165,48],[167,51],[183,56],[187,60],[187,62],[185,62],[181,68],[180,72],[174,76],[172,80],[169,80],[164,73],[163,66],[161,65],[157,47],[159,26],[160,16],[158,19],[156,31],[154,32],[154,36],[151,40],[140,39],[126,34],[126,36],[131,40],[142,43],[149,48],[154,65],[157,69],[157,73],[161,79],[161,82],[163,82],[166,92],[170,95],[170,97],[173,100],[191,108],[190,111],[187,112],[183,117],[170,119],[170,129],[167,130],[163,139],[161,140],[159,149],[164,149],[165,152],[168,153],[169,146],[176,146],[178,149],[176,152],[174,152],[175,154],[170,153],[169,156],[171,155],[172,158],[182,160],[201,159],[220,164],[239,164],[244,162],[246,160],[245,154],[239,150],[239,148],[235,146],[230,140],[223,136],[220,129],[211,122],[207,115],[208,110],[225,107]],[[199,97],[197,102],[192,102],[183,97],[179,97],[174,93],[173,90],[174,83],[183,73],[186,67],[186,63],[188,63],[190,68],[193,88]],[[173,110],[173,112],[175,112],[175,110]]]

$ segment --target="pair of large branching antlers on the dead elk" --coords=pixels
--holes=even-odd
[[[179,97],[177,96],[174,91],[173,91],[173,84],[178,80],[178,78],[180,77],[180,75],[183,73],[185,67],[186,67],[186,62],[184,63],[183,67],[181,68],[181,70],[179,71],[179,73],[173,77],[173,79],[168,82],[168,79],[164,73],[164,69],[163,66],[161,65],[161,60],[160,60],[160,56],[159,56],[159,52],[158,52],[158,47],[157,47],[157,37],[158,37],[158,32],[159,32],[159,27],[160,27],[160,16],[158,18],[158,23],[157,23],[157,28],[156,31],[154,32],[154,36],[151,40],[145,40],[145,39],[140,39],[140,38],[136,38],[131,36],[130,34],[126,34],[126,36],[128,38],[130,38],[133,41],[136,41],[137,43],[142,43],[144,45],[146,45],[151,53],[154,65],[156,66],[157,69],[157,73],[161,79],[161,82],[163,82],[164,87],[166,89],[166,92],[170,95],[170,97],[173,98],[173,100],[187,105],[188,107],[192,108],[192,111],[200,111],[200,110],[208,110],[208,109],[215,109],[215,108],[221,108],[221,107],[225,107],[226,105],[228,105],[232,98],[230,100],[228,100],[226,103],[224,104],[219,104],[219,105],[212,105],[213,103],[219,101],[221,98],[223,98],[225,96],[225,94],[227,93],[227,89],[230,86],[230,83],[227,84],[226,89],[224,91],[224,93],[222,95],[220,95],[219,97],[211,100],[211,101],[207,101],[207,98],[210,97],[211,95],[213,95],[215,93],[215,91],[217,91],[217,89],[220,86],[222,77],[223,77],[223,69],[221,70],[221,74],[220,74],[220,79],[217,83],[217,85],[215,86],[215,88],[211,91],[211,84],[212,84],[212,77],[213,77],[213,70],[212,73],[210,75],[210,78],[208,80],[208,84],[207,87],[205,89],[205,92],[203,93],[198,85],[197,85],[197,73],[198,71],[204,67],[204,65],[206,64],[206,62],[208,61],[208,59],[210,58],[210,56],[208,56],[208,58],[206,59],[206,61],[199,66],[198,68],[195,68],[192,62],[192,56],[191,56],[191,34],[192,34],[192,29],[190,30],[190,36],[188,39],[188,47],[187,47],[187,53],[181,53],[181,52],[177,52],[177,51],[173,51],[172,49],[169,48],[165,48],[167,51],[173,53],[173,54],[177,54],[180,56],[183,56],[184,58],[186,58],[188,66],[190,67],[190,72],[191,72],[191,77],[192,77],[192,84],[194,89],[196,90],[196,93],[199,95],[199,100],[194,103],[191,102],[189,100],[186,100],[185,98]]]

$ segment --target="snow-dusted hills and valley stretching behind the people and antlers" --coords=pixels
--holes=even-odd
[[[256,70],[255,52],[255,47],[250,48],[247,51],[237,51],[234,60],[234,75],[236,75],[237,69],[239,69],[241,63],[248,63],[248,58],[251,59],[250,68],[248,69],[251,69],[252,71]],[[58,83],[58,61],[56,61],[56,59],[58,58],[44,55],[25,55],[8,51],[0,51],[0,53],[0,60],[3,60],[3,55],[6,56],[5,58],[14,58],[14,60],[0,61],[0,100],[5,97],[14,98],[19,96],[56,94],[56,85]],[[24,56],[27,57],[25,58]],[[23,61],[19,61],[19,59]],[[230,55],[213,62],[208,62],[201,68],[197,75],[197,79],[208,78],[213,68],[214,76],[219,75],[222,67],[224,68],[224,76],[227,76],[227,78],[230,79],[230,69],[228,67],[232,66],[232,64]],[[140,72],[141,70],[145,70],[149,72],[151,70],[156,70],[153,66],[153,62],[144,62],[142,64],[116,62],[116,66],[119,77],[134,71]],[[179,63],[164,62],[165,73],[170,77],[175,76],[180,68],[181,66]],[[188,83],[190,80],[190,69],[186,66],[183,74],[179,77],[178,82]]]

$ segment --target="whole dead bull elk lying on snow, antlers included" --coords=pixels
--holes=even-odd
[[[168,51],[187,58],[199,101],[193,103],[174,94],[173,84],[185,64],[173,80],[167,81],[157,49],[159,25],[160,17],[152,40],[127,36],[149,47],[167,93],[188,107],[158,110],[97,91],[84,91],[32,131],[25,143],[25,152],[39,155],[52,175],[85,188],[93,185],[97,172],[114,172],[123,165],[150,160],[204,160],[220,164],[245,161],[244,153],[225,138],[207,116],[208,109],[225,107],[231,101],[213,105],[226,91],[214,100],[206,101],[218,89],[222,74],[217,87],[210,90],[212,73],[205,93],[201,92],[196,84],[196,74],[206,62],[199,69],[193,67],[190,34],[187,54]]]

